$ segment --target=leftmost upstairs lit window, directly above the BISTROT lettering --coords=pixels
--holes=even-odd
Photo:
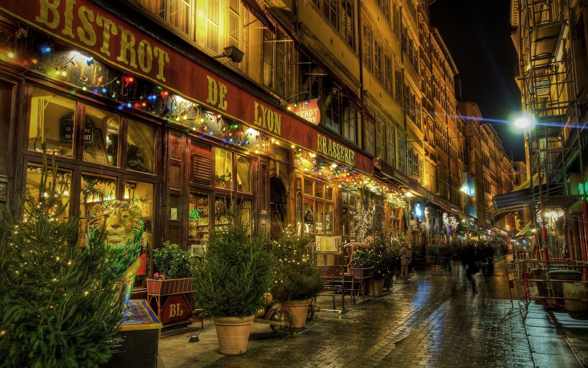
[[[139,0],[139,5],[185,34],[192,34],[191,0]]]

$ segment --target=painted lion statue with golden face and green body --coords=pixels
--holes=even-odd
[[[112,279],[121,284],[124,298],[122,314],[126,320],[132,320],[129,300],[133,283],[139,268],[141,237],[143,236],[143,217],[141,207],[124,201],[107,201],[92,208],[89,226],[91,234],[98,228],[105,227],[108,257],[113,260]]]

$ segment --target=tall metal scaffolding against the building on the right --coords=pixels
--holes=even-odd
[[[535,240],[542,248],[547,242],[546,212],[563,214],[561,230],[567,234],[568,210],[580,200],[579,195],[570,193],[568,183],[572,172],[579,172],[583,178],[584,167],[579,134],[581,101],[574,78],[575,29],[569,0],[515,1],[520,23],[515,45],[523,109],[534,120],[525,134],[530,207],[537,231]],[[561,254],[554,256],[567,256],[571,243],[572,237],[563,236]]]

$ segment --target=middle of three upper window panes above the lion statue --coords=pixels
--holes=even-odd
[[[90,163],[118,166],[118,115],[87,105],[86,122],[91,122],[93,129],[86,131],[93,139],[83,144],[83,160]]]

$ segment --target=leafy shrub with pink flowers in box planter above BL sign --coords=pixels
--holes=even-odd
[[[147,293],[167,295],[194,290],[191,279],[194,259],[192,253],[169,241],[153,250],[153,266],[157,272],[153,279],[147,279]]]

